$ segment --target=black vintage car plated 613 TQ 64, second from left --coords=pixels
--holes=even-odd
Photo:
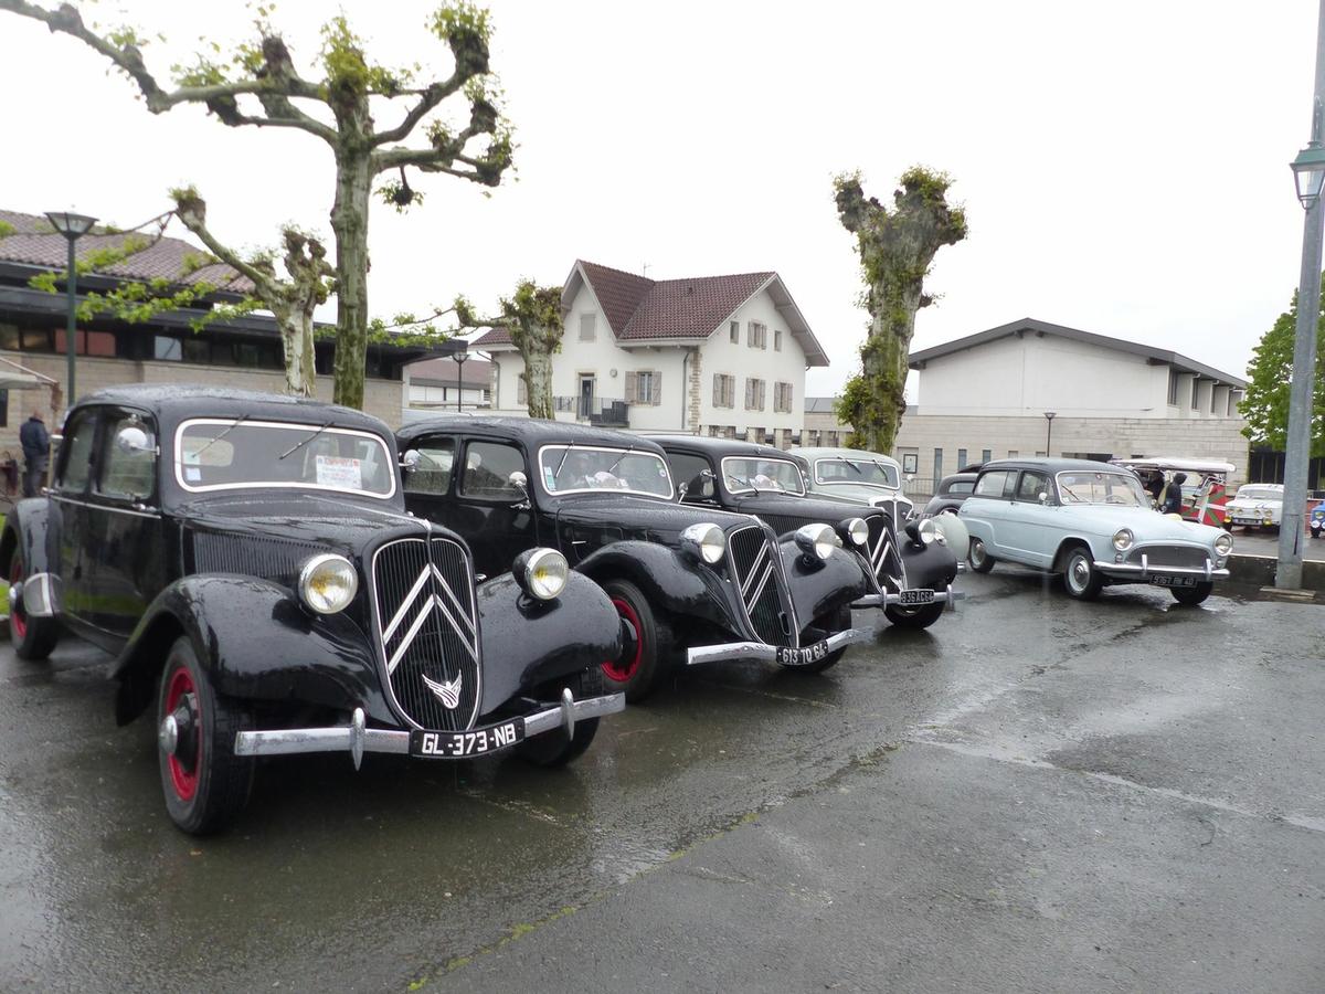
[[[674,651],[822,671],[852,641],[867,590],[832,527],[782,541],[745,514],[676,502],[662,449],[637,435],[526,417],[429,417],[398,435],[405,506],[464,535],[478,570],[547,545],[624,622],[607,687],[640,700]]]

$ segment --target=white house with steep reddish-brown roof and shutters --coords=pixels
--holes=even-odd
[[[803,421],[806,370],[828,357],[776,273],[649,280],[578,260],[553,360],[558,417],[783,441]],[[502,330],[494,412],[523,414],[525,364]]]

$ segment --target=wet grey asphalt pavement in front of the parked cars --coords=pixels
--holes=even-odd
[[[0,989],[1325,989],[1325,606],[961,586],[567,770],[272,761],[205,840],[102,656],[4,645]]]

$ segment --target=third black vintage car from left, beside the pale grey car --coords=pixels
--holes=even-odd
[[[871,508],[806,490],[808,463],[771,445],[694,435],[656,435],[672,464],[681,501],[757,514],[778,534],[811,521],[829,521],[869,577],[869,592],[853,607],[882,607],[888,620],[928,628],[965,594],[953,590],[957,557],[933,525],[909,524],[898,537],[888,505]]]

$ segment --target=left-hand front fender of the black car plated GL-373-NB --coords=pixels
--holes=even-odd
[[[119,681],[118,724],[151,706],[166,655],[180,635],[192,640],[219,693],[363,708],[376,722],[400,725],[382,692],[376,651],[347,614],[313,614],[289,587],[232,574],[184,577],[152,600],[110,667]]]

